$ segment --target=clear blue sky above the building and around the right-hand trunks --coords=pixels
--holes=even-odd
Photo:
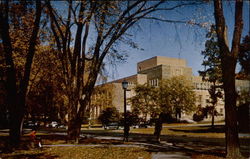
[[[178,2],[173,2],[178,3]],[[249,32],[249,2],[244,2],[244,28],[243,36]],[[232,37],[234,24],[234,5],[232,1],[224,4],[226,23],[229,27],[229,40]],[[213,3],[201,6],[190,6],[167,13],[158,13],[158,17],[175,20],[195,20],[197,22],[213,23]],[[136,74],[136,64],[139,61],[153,56],[167,56],[183,58],[187,60],[189,67],[193,69],[193,74],[202,70],[201,51],[204,49],[207,30],[204,28],[190,26],[187,24],[162,23],[156,21],[143,20],[140,22],[140,29],[135,27],[129,31],[133,35],[133,40],[141,49],[132,49],[128,46],[120,46],[121,51],[126,50],[127,61],[120,63],[116,68],[107,67],[109,81]]]

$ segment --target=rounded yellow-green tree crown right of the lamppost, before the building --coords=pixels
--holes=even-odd
[[[191,81],[184,76],[165,79],[158,88],[158,105],[162,112],[175,114],[189,113],[195,109],[195,94]]]

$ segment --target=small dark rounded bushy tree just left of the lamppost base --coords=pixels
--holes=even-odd
[[[111,122],[118,122],[119,119],[119,112],[115,107],[106,108],[99,116],[99,120],[102,122],[103,125],[107,125]]]

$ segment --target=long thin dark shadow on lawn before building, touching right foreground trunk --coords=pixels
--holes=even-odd
[[[169,129],[175,132],[185,132],[185,133],[225,133],[225,126],[224,125],[216,125],[214,128],[211,126],[200,126],[200,129]]]

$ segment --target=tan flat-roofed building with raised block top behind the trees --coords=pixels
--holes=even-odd
[[[187,66],[186,60],[177,59],[177,58],[169,58],[162,56],[155,56],[150,59],[141,61],[137,63],[137,74],[129,77],[125,77],[122,79],[118,79],[112,82],[109,82],[105,85],[112,85],[111,91],[112,94],[112,104],[107,106],[114,106],[118,109],[119,112],[123,112],[123,89],[122,89],[122,81],[126,80],[129,84],[129,90],[127,91],[127,98],[135,95],[133,91],[133,87],[136,84],[145,84],[148,83],[152,86],[158,86],[159,82],[163,79],[171,78],[174,76],[183,75],[190,79],[194,85],[194,91],[197,97],[196,105],[205,107],[208,104],[209,92],[208,89],[211,86],[211,83],[205,82],[202,80],[200,76],[193,76],[192,68]],[[250,89],[249,81],[236,81],[236,89],[238,91],[242,89]],[[104,108],[100,106],[100,108]],[[219,116],[216,117],[217,120],[224,119],[224,101],[220,99],[217,106],[217,112],[219,112]],[[127,104],[127,110],[131,110],[131,105]],[[100,114],[101,109],[98,109],[99,112],[96,112],[92,117],[97,118]],[[192,114],[182,114],[182,118],[191,118]]]

